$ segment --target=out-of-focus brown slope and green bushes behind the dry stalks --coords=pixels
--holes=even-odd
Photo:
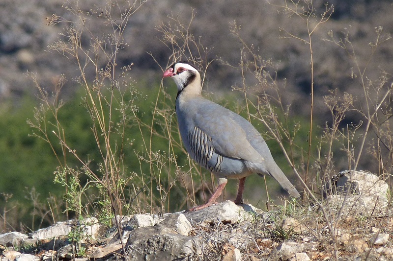
[[[130,74],[141,94],[147,95],[140,102],[140,119],[151,121],[155,96],[149,95],[157,92],[162,70],[172,62],[168,61],[172,50],[163,44],[163,33],[159,28],[163,24],[173,23],[173,17],[190,24],[189,31],[200,37],[201,44],[209,49],[206,60],[214,61],[206,71],[204,90],[211,99],[224,104],[232,100],[229,107],[236,107],[242,99],[241,94],[228,96],[234,85],[242,83],[241,73],[226,65],[237,66],[240,60],[242,44],[230,31],[235,22],[241,28],[241,37],[249,45],[259,48],[259,54],[264,59],[273,59],[278,64],[277,77],[279,81],[285,82],[287,92],[284,105],[290,104],[299,116],[308,119],[311,85],[309,47],[284,33],[288,31],[306,37],[307,29],[305,21],[293,19],[280,11],[276,5],[283,3],[278,0],[271,1],[271,4],[265,0],[206,0],[202,3],[196,0],[148,0],[144,3],[131,16],[123,35],[127,46],[117,57],[119,67],[133,64]],[[63,4],[64,0],[0,1],[0,213],[3,220],[9,222],[3,224],[3,229],[36,229],[55,221],[42,218],[48,211],[44,206],[51,197],[61,199],[64,194],[61,186],[53,182],[53,173],[58,164],[52,149],[46,142],[31,136],[33,131],[27,123],[28,119],[34,118],[34,108],[40,103],[35,83],[26,75],[28,71],[36,75],[37,83],[48,93],[55,91],[59,75],[64,75],[67,81],[61,90],[61,98],[65,105],[59,114],[67,127],[67,140],[86,158],[98,156],[94,137],[91,137],[87,124],[88,115],[80,106],[81,90],[73,80],[80,76],[80,72],[75,69],[72,60],[48,48],[61,38],[64,24],[47,25],[47,18],[56,14],[65,20],[76,19]],[[80,1],[79,6],[88,11],[99,8],[100,4],[98,0],[84,0]],[[324,105],[324,95],[335,89],[337,95],[360,95],[359,78],[354,76],[353,57],[343,48],[323,39],[329,39],[332,34],[335,39],[348,37],[358,63],[367,65],[369,79],[378,79],[381,73],[390,78],[393,73],[392,42],[381,45],[371,59],[369,46],[377,39],[376,28],[379,26],[382,26],[383,34],[393,33],[392,1],[332,0],[328,6],[332,4],[334,12],[331,18],[313,32],[315,118],[317,125],[322,127],[330,119]],[[326,8],[322,0],[314,0],[313,7],[316,10]],[[195,17],[190,23],[193,14]],[[91,31],[102,35],[111,32],[111,26],[105,24],[105,18],[102,19],[103,23],[89,25]],[[89,45],[87,34],[82,40],[82,46]],[[85,74],[88,79],[94,79],[94,71],[87,70]],[[164,86],[175,97],[174,84],[165,81]],[[349,114],[345,123],[357,123],[360,120],[357,115]],[[129,136],[133,136],[135,131],[130,127]],[[306,132],[302,139],[307,144]],[[134,143],[134,147],[125,148],[125,153],[129,155],[130,171],[134,171],[133,166],[137,170],[140,168],[135,157],[138,138]],[[155,146],[159,150],[160,146],[168,146],[168,142],[158,139]],[[291,169],[284,159],[280,159],[280,148],[275,147],[274,142],[269,143],[269,146],[275,158],[279,158],[279,165],[284,172],[291,176]],[[179,155],[178,161],[185,161],[185,156]],[[68,164],[77,165],[77,161],[70,160]],[[345,157],[336,159],[337,171],[347,166]],[[371,159],[363,160],[358,168],[377,171]],[[245,198],[254,205],[263,206],[261,201],[265,199],[260,191],[263,183],[260,178],[256,179],[260,184],[256,188],[250,187]],[[236,193],[236,182],[232,183],[228,190],[233,191],[227,193],[227,197]],[[178,210],[176,208],[178,206],[172,209]],[[8,218],[4,218],[6,216]]]

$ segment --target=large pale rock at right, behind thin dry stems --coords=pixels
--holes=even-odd
[[[334,208],[344,205],[345,212],[375,213],[386,210],[389,185],[364,171],[342,171],[332,179],[333,192],[327,200]]]

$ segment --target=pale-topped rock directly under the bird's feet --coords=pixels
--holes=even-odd
[[[252,213],[255,213],[253,207],[243,205],[238,206],[233,201],[226,200],[195,212],[185,212],[184,215],[190,220],[191,224],[196,223],[200,226],[217,222],[234,224],[241,220],[251,220]]]

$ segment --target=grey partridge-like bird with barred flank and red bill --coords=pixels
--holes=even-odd
[[[243,204],[248,176],[269,175],[293,197],[299,192],[288,180],[260,133],[242,116],[202,96],[200,73],[187,61],[175,62],[163,74],[177,86],[175,110],[180,137],[191,158],[218,178],[210,199],[189,212],[216,204],[228,179],[238,179],[234,203]]]

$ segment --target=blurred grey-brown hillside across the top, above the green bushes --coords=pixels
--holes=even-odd
[[[280,1],[272,3],[279,4]],[[53,88],[53,77],[58,74],[63,73],[67,79],[77,75],[72,61],[49,51],[48,48],[48,45],[59,37],[62,26],[48,26],[46,18],[56,14],[65,20],[76,19],[62,4],[62,0],[1,2],[0,90],[3,99],[34,92],[31,80],[23,76],[27,70],[36,72],[39,82],[49,90]],[[241,26],[242,38],[249,45],[260,48],[259,53],[265,60],[273,59],[279,63],[278,76],[287,80],[287,89],[293,97],[293,100],[287,102],[302,109],[304,106],[301,106],[301,100],[309,96],[309,49],[300,41],[288,38],[282,29],[303,37],[306,28],[302,19],[287,17],[273,4],[256,0],[249,1],[247,5],[235,0],[205,1],[202,4],[197,1],[146,1],[127,24],[124,33],[127,47],[119,53],[119,66],[133,63],[135,77],[150,78],[148,84],[158,81],[161,74],[158,65],[167,65],[171,50],[162,44],[163,34],[157,28],[162,24],[173,23],[168,16],[188,24],[193,12],[195,17],[189,30],[194,36],[200,37],[203,46],[210,50],[206,60],[220,57],[236,66],[241,45],[236,37],[230,34],[231,24],[236,21],[236,24]],[[393,7],[389,0],[330,1],[329,4],[334,6],[332,17],[318,27],[313,35],[318,97],[327,94],[329,89],[338,89],[340,93],[356,93],[358,88],[356,79],[349,77],[354,68],[353,61],[343,49],[321,41],[329,38],[328,32],[332,31],[337,39],[347,34],[357,53],[358,62],[362,65],[366,64],[369,57],[369,43],[376,39],[375,28],[382,26],[383,33],[393,32],[393,18],[389,15]],[[86,0],[80,5],[84,11],[99,7],[93,0]],[[323,10],[324,1],[314,1],[313,7]],[[89,26],[93,32],[103,35],[111,30],[105,23]],[[85,47],[89,45],[87,35],[81,44]],[[369,78],[378,77],[382,70],[387,73],[392,71],[392,52],[391,44],[376,51],[369,62]],[[229,90],[232,85],[241,82],[239,72],[230,70],[218,61],[207,71],[207,77],[208,87],[212,92],[223,88]],[[93,76],[90,75],[89,78]],[[72,80],[67,82],[67,92],[73,92],[73,85]],[[308,111],[307,108],[304,110]]]

